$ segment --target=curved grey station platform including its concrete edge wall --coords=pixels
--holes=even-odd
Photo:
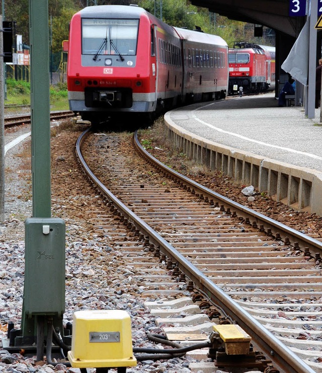
[[[181,151],[294,208],[322,215],[322,123],[274,94],[198,103],[165,115]]]

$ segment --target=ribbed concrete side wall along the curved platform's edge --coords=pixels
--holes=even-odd
[[[322,173],[207,141],[177,126],[167,114],[165,125],[172,146],[188,158],[253,185],[276,201],[322,216]]]

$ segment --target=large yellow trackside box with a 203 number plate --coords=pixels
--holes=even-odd
[[[126,311],[77,311],[68,360],[75,368],[135,366],[131,319]]]

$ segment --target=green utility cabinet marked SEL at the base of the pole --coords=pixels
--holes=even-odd
[[[65,222],[28,218],[25,222],[24,313],[62,317],[65,311]]]

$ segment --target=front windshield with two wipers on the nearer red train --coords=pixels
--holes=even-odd
[[[82,19],[82,54],[136,55],[139,20]]]

